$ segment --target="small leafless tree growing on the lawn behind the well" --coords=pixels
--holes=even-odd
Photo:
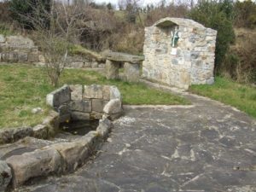
[[[77,23],[83,15],[80,6],[79,3],[67,6],[65,3],[52,1],[49,11],[38,1],[37,5],[32,7],[32,15],[20,15],[32,23],[32,35],[42,50],[45,70],[54,86],[58,86],[66,66],[70,39],[81,30],[77,28]],[[45,20],[41,18],[49,20],[49,26],[46,26]]]

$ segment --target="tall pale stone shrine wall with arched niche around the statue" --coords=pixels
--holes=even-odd
[[[175,32],[177,44],[172,44]],[[165,18],[146,27],[143,77],[183,89],[212,84],[216,35],[215,30],[181,18]]]

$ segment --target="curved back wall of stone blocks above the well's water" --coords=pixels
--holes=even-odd
[[[49,106],[60,113],[60,122],[67,120],[110,119],[122,113],[121,95],[116,86],[64,85],[46,96]]]

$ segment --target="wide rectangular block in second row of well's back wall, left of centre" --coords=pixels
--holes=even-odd
[[[71,101],[68,105],[71,111],[90,113],[92,110],[92,104],[90,100]]]

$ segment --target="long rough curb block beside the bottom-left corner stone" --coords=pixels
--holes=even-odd
[[[14,187],[33,177],[61,172],[61,155],[53,148],[13,155],[6,162],[12,168]]]

